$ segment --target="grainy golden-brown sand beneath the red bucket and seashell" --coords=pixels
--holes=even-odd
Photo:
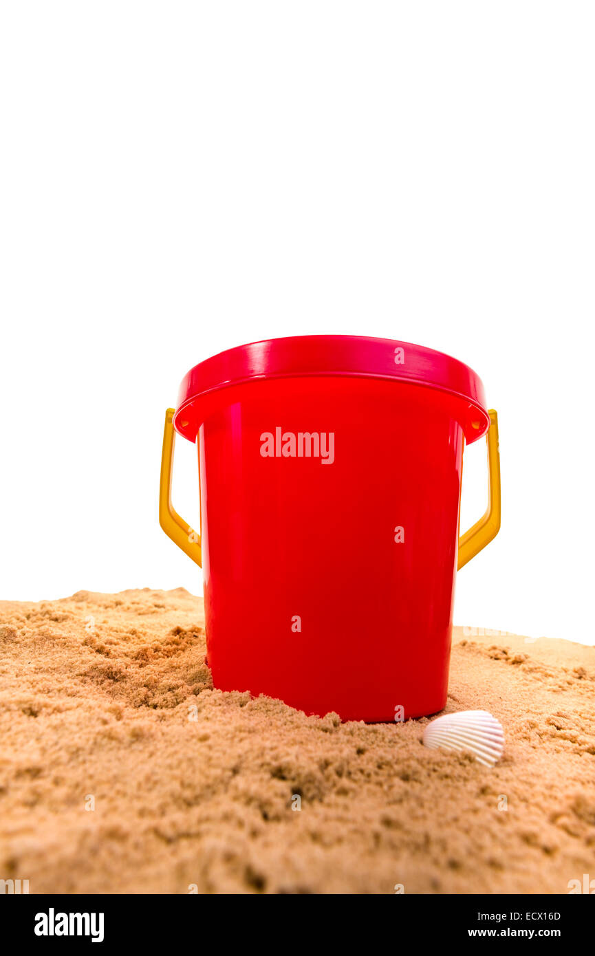
[[[426,720],[342,724],[213,690],[183,589],[3,602],[0,622],[0,879],[31,893],[595,879],[593,647],[455,629],[447,709],[502,722],[489,770],[424,748]]]

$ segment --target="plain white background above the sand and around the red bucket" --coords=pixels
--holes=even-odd
[[[262,337],[448,352],[502,530],[455,621],[592,643],[595,7],[0,7],[2,597],[185,586],[165,407]],[[194,449],[176,505],[197,524]],[[484,508],[466,452],[462,528]]]

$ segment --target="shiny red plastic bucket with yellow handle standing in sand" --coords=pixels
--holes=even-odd
[[[174,427],[198,448],[200,533],[171,505]],[[463,448],[485,434],[490,505],[459,542]],[[457,563],[499,528],[496,413],[470,368],[407,342],[231,349],[166,414],[160,520],[202,561],[215,687],[343,720],[434,713]]]

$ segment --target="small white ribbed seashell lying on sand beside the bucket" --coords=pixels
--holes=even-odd
[[[470,750],[484,767],[494,767],[504,751],[504,731],[487,710],[459,710],[432,720],[424,728],[424,744],[432,749]]]

